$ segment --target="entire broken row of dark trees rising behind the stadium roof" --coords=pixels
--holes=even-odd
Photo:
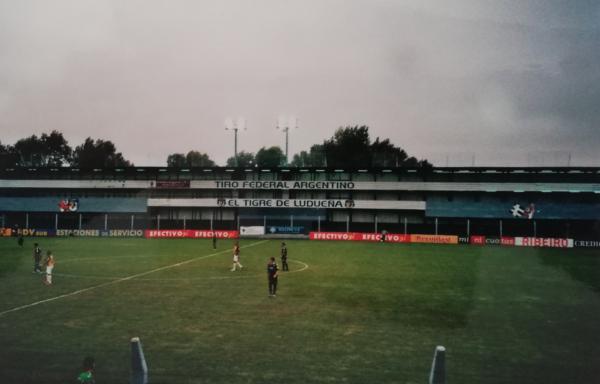
[[[216,164],[206,153],[189,151],[173,153],[167,157],[169,167],[214,167]],[[241,151],[227,159],[227,166],[279,167],[286,165],[285,154],[280,147],[263,147],[258,152]],[[111,141],[88,137],[81,145],[72,149],[62,133],[52,131],[40,137],[32,135],[14,145],[0,143],[0,167],[61,167],[115,168],[133,164],[117,152]],[[408,156],[389,139],[379,137],[371,142],[369,127],[348,126],[322,144],[314,144],[308,151],[293,156],[292,167],[431,167],[427,160]]]

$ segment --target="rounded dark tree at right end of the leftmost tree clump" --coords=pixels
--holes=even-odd
[[[71,165],[80,168],[133,166],[131,162],[125,160],[121,152],[117,152],[115,145],[110,140],[96,139],[94,141],[91,137],[75,148]]]

